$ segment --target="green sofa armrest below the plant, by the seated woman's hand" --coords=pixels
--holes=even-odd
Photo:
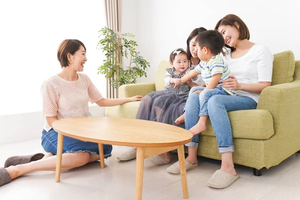
[[[154,82],[123,84],[119,87],[119,97],[124,98],[135,95],[144,96],[151,91],[155,91]]]

